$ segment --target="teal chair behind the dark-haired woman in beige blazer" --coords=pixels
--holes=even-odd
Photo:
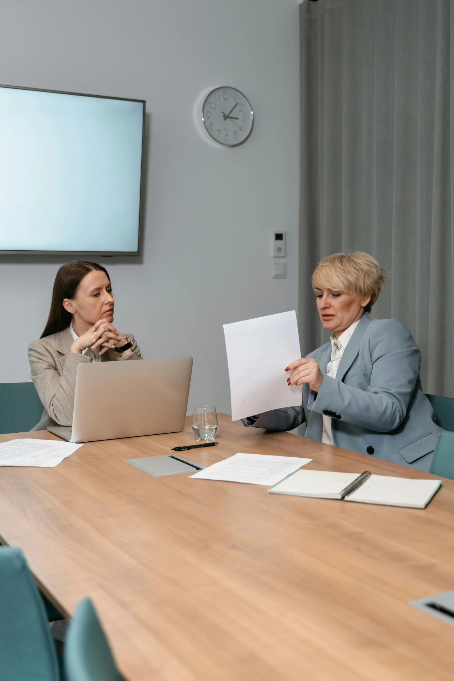
[[[31,430],[42,413],[33,383],[0,383],[0,434]]]

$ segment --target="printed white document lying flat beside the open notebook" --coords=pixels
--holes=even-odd
[[[242,454],[238,452],[228,459],[218,461],[203,471],[189,477],[201,480],[225,480],[245,482],[250,485],[275,485],[312,459],[298,456],[272,456],[270,454]]]

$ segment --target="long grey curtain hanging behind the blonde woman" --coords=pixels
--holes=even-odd
[[[306,1],[300,20],[302,351],[329,337],[317,262],[367,251],[391,272],[372,317],[406,324],[425,392],[454,397],[454,0]]]

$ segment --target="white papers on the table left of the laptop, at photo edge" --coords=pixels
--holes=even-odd
[[[0,466],[42,466],[52,468],[82,445],[59,440],[18,438],[0,443]]]

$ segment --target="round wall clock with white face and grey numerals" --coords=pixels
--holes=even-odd
[[[201,110],[208,135],[224,146],[238,146],[249,137],[254,123],[246,97],[233,87],[212,90]]]

